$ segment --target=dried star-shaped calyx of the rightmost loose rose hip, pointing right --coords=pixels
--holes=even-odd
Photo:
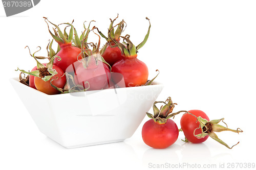
[[[240,128],[237,128],[237,130],[229,129],[227,127],[227,124],[224,123],[223,120],[224,120],[224,118],[208,121],[208,120],[202,118],[201,116],[197,117],[197,121],[200,123],[200,125],[198,128],[195,129],[194,136],[197,137],[198,139],[201,139],[201,138],[209,135],[212,139],[223,144],[228,149],[232,149],[239,142],[237,144],[234,144],[232,147],[229,147],[224,141],[219,139],[219,137],[214,132],[231,131],[231,132],[236,132],[239,134],[240,132],[243,132],[243,131]],[[223,122],[226,125],[226,127],[219,125],[220,122]],[[200,129],[201,133],[196,135],[195,132],[197,129]]]

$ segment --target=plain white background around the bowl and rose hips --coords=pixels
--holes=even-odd
[[[6,17],[1,5],[0,169],[153,169],[150,163],[214,164],[218,168],[220,163],[256,163],[249,154],[255,153],[255,9],[255,1],[234,0],[42,0],[28,11]],[[18,76],[17,66],[26,70],[35,66],[26,45],[31,51],[41,46],[40,54],[46,55],[51,37],[42,17],[54,23],[74,19],[79,32],[83,21],[96,20],[92,26],[106,34],[109,18],[117,13],[118,21],[127,23],[124,35],[130,34],[136,45],[148,29],[145,17],[151,19],[150,37],[138,58],[147,64],[150,78],[160,70],[157,81],[165,88],[158,101],[171,96],[178,103],[174,111],[200,109],[210,119],[225,117],[229,128],[244,130],[239,135],[218,134],[229,145],[240,141],[236,147],[229,150],[210,138],[201,144],[184,143],[180,133],[171,147],[151,149],[141,138],[148,117],[124,142],[78,149],[65,149],[39,132],[9,79]],[[180,117],[174,119],[178,128]]]

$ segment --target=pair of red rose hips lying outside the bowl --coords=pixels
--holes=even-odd
[[[158,109],[156,107],[157,103],[163,103],[164,105]],[[167,148],[175,143],[180,131],[183,131],[185,135],[185,140],[183,140],[185,142],[202,143],[210,136],[229,149],[239,143],[230,148],[216,135],[215,132],[222,131],[243,132],[240,128],[237,128],[237,130],[227,128],[227,125],[223,122],[224,118],[210,120],[201,110],[182,110],[172,113],[175,105],[177,104],[173,103],[169,97],[165,102],[155,102],[153,104],[154,115],[146,113],[151,119],[142,127],[142,139],[145,144],[156,149]],[[180,120],[181,129],[178,129],[175,122],[170,118],[182,112],[184,114]],[[226,127],[219,125],[220,122],[223,122]]]

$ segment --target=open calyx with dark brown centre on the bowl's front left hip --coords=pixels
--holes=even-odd
[[[28,46],[26,46],[26,47],[28,47]],[[26,48],[26,47],[25,47],[25,48]],[[38,46],[38,47],[39,47],[39,50],[38,50],[38,51],[40,51],[40,50],[41,50],[41,47],[40,47],[40,46]],[[29,47],[28,47],[28,48],[29,48]],[[35,53],[37,53],[38,51],[36,51]],[[29,50],[29,53],[30,53],[30,50]],[[33,55],[31,55],[31,53],[30,53],[30,55],[36,60],[36,63],[37,63],[37,65],[36,65],[36,66],[37,66],[37,69],[36,69],[36,70],[30,71],[30,72],[25,71],[25,70],[22,70],[22,69],[19,69],[19,68],[17,68],[17,70],[20,70],[20,71],[22,71],[23,73],[26,73],[26,74],[28,74],[28,75],[32,75],[32,76],[35,76],[35,77],[40,77],[40,78],[41,78],[42,80],[44,80],[44,81],[49,81],[54,75],[57,74],[57,71],[52,68],[54,59],[57,58],[57,59],[60,61],[61,58],[58,57],[58,56],[53,56],[53,57],[50,59],[49,63],[47,63],[46,65],[44,65],[44,64],[41,64],[41,63],[37,60],[37,58],[35,57],[35,53],[33,53]],[[16,71],[17,71],[17,70],[16,70]]]

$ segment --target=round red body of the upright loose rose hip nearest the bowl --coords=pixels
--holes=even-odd
[[[142,139],[152,148],[167,148],[176,142],[178,136],[179,129],[171,119],[167,119],[165,124],[158,124],[150,119],[142,127]]]

